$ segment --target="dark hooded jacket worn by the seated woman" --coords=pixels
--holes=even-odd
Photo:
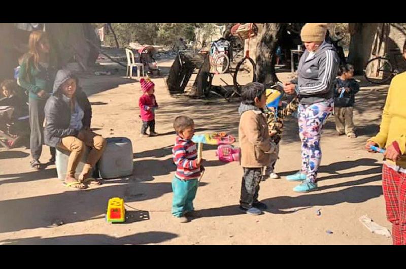
[[[77,136],[78,130],[70,127],[71,109],[70,104],[62,98],[62,93],[58,92],[60,85],[67,79],[73,78],[71,72],[59,70],[54,83],[53,94],[48,98],[45,105],[44,142],[46,145],[56,147],[64,137]],[[89,99],[80,87],[77,87],[75,98],[82,108],[84,116],[83,127],[90,127],[92,110]]]

